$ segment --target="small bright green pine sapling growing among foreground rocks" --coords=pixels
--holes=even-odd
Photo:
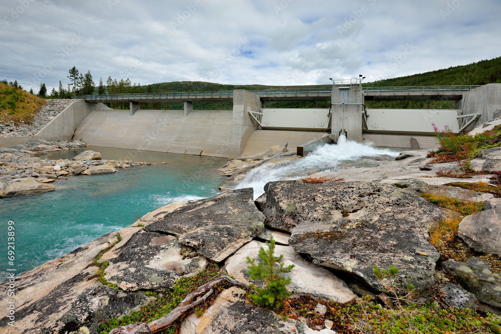
[[[291,283],[290,277],[284,277],[282,273],[291,272],[294,264],[284,266],[282,260],[284,255],[275,257],[275,239],[273,236],[270,242],[266,242],[268,249],[261,247],[258,256],[261,261],[247,256],[249,274],[251,279],[264,280],[265,288],[255,287],[255,293],[249,294],[252,300],[258,306],[279,309],[284,301],[291,295],[286,289],[286,285]]]

